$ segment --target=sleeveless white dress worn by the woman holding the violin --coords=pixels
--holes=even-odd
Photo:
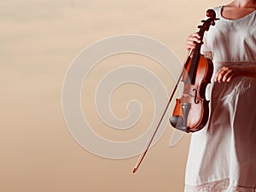
[[[205,33],[201,51],[219,67],[256,65],[256,11],[237,20],[221,15]],[[214,77],[214,73],[212,77]],[[254,192],[256,187],[256,79],[239,77],[207,87],[210,117],[192,134],[185,192]]]

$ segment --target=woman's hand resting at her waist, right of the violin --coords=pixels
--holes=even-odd
[[[230,82],[231,79],[239,75],[241,75],[241,71],[238,67],[221,67],[218,70],[214,81],[218,83]]]

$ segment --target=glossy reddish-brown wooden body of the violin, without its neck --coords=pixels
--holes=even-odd
[[[209,114],[209,101],[205,92],[211,82],[213,73],[212,61],[203,55],[199,56],[195,81],[191,82],[189,68],[193,60],[189,57],[183,73],[183,94],[176,99],[176,105],[170,118],[173,127],[181,131],[200,131],[206,124]]]

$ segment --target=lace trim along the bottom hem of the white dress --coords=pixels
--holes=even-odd
[[[230,186],[230,179],[225,178],[220,181],[203,183],[197,186],[185,185],[185,192],[255,192],[254,188],[244,188]]]

